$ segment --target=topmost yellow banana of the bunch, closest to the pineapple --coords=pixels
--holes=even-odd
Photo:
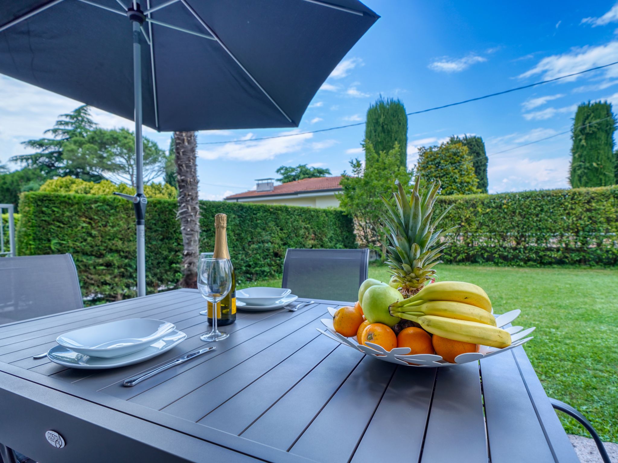
[[[438,282],[425,286],[411,298],[397,302],[397,307],[407,306],[418,301],[452,301],[470,304],[491,312],[489,296],[480,286],[465,282]]]

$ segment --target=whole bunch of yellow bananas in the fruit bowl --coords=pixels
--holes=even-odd
[[[489,297],[472,283],[431,283],[411,298],[391,304],[389,312],[442,338],[496,348],[511,343],[509,332],[496,327]]]

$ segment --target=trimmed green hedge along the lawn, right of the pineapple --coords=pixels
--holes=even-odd
[[[443,196],[445,262],[617,265],[618,186]]]

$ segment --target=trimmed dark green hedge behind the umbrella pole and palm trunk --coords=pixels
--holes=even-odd
[[[201,201],[202,251],[214,248],[214,214],[227,214],[237,278],[281,273],[287,248],[354,248],[352,220],[341,211]],[[115,196],[23,193],[17,229],[20,255],[70,252],[82,294],[95,302],[135,296],[135,218]],[[176,288],[182,238],[176,201],[150,199],[146,212],[148,293]]]

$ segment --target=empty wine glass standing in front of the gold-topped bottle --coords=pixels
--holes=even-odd
[[[232,262],[214,257],[200,259],[197,266],[197,287],[206,301],[213,304],[213,329],[200,336],[202,341],[220,341],[229,336],[217,329],[217,302],[232,289]]]

